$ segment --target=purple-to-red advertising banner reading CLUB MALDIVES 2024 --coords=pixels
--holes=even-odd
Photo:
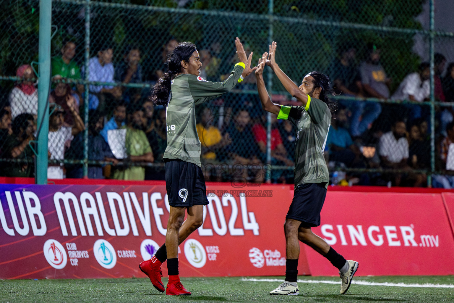
[[[207,184],[207,196],[204,224],[179,247],[180,275],[284,274],[290,186]],[[0,278],[144,277],[138,263],[165,242],[162,183],[1,184],[0,201]],[[310,274],[305,255],[299,268]]]

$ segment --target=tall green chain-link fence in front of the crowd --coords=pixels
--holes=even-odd
[[[34,171],[38,5],[10,1],[0,12],[7,176]],[[330,77],[339,105],[325,150],[332,184],[452,186],[454,36],[430,30],[433,7],[424,0],[54,0],[49,179],[163,179],[165,109],[148,97],[168,51],[192,41],[201,76],[222,81],[240,37],[253,63],[277,41],[276,61],[298,85],[313,70]],[[275,103],[298,105],[270,70],[264,79]],[[295,127],[262,110],[254,75],[197,108],[197,121],[207,180],[293,181]]]

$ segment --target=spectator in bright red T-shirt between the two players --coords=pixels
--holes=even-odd
[[[266,114],[262,115],[262,123],[266,124]],[[266,157],[266,129],[262,123],[256,123],[252,126],[252,133],[259,147],[263,158]],[[275,161],[277,165],[293,166],[295,163],[289,159],[287,151],[282,143],[282,137],[277,128],[277,115],[271,114],[271,161]],[[274,158],[274,159],[273,159]],[[265,159],[263,159],[265,160]]]

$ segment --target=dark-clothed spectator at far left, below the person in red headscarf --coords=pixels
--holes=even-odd
[[[32,177],[34,175],[33,151],[30,141],[35,140],[36,127],[32,114],[19,114],[13,120],[13,134],[4,141],[2,158],[19,160],[2,164],[7,177]],[[22,160],[23,162],[20,162]]]

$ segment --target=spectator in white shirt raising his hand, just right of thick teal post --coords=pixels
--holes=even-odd
[[[48,151],[50,160],[64,160],[64,151],[70,146],[74,135],[85,130],[84,122],[75,109],[74,99],[68,99],[68,107],[74,118],[74,126],[66,127],[64,123],[64,110],[58,104],[49,106],[49,134]],[[49,179],[63,179],[64,169],[62,163],[50,163],[47,168]]]

